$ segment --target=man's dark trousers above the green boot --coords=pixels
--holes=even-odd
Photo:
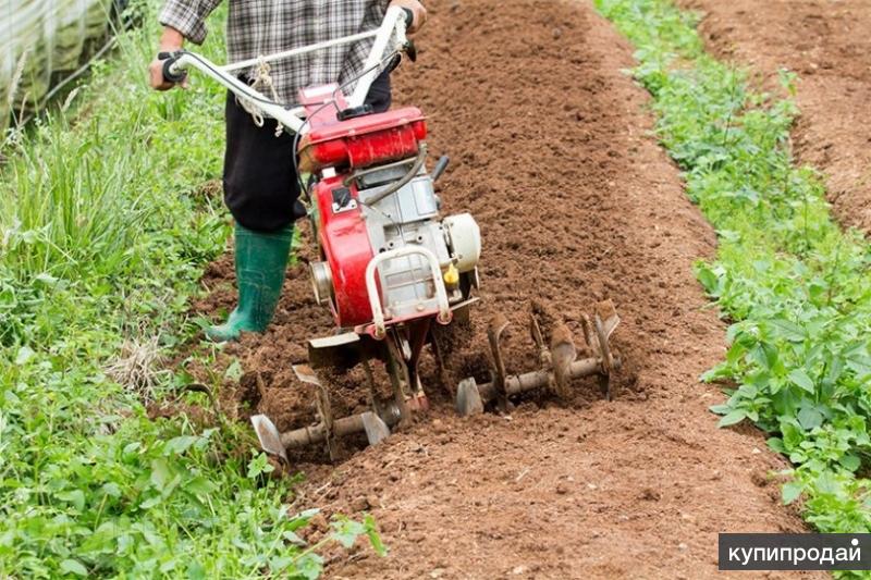
[[[366,102],[376,112],[390,108],[390,73],[372,83]],[[265,119],[254,124],[252,115],[232,92],[226,96],[226,151],[224,152],[224,202],[241,225],[256,232],[274,232],[305,213],[296,203],[299,181],[294,171],[293,135],[275,137],[278,122]]]

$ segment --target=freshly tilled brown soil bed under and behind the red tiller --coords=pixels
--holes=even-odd
[[[306,481],[293,509],[369,511],[390,547],[385,558],[335,550],[328,576],[702,578],[717,573],[717,532],[803,531],[770,477],[785,462],[759,432],[719,430],[708,411],[722,396],[698,377],[721,359],[724,325],[691,267],[715,237],[649,136],[646,94],[621,72],[631,47],[586,1],[428,7],[395,100],[428,112],[430,149],[455,160],[440,183],[446,212],[481,224],[476,344],[504,312],[516,322],[510,365],[530,370],[522,325],[533,301],[577,330],[581,311],[611,298],[626,368],[611,403],[584,381],[571,402],[542,397],[506,417],[459,419],[437,400],[341,465],[294,457]],[[200,311],[232,305],[231,264],[213,264]],[[223,405],[240,419],[256,407],[281,429],[308,422],[310,393],[291,365],[330,330],[293,269],[267,334],[228,348],[245,374]],[[358,391],[340,394],[344,410],[365,404]],[[308,539],[326,528],[319,519]]]

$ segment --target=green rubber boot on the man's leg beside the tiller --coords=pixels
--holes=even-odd
[[[238,306],[226,322],[206,330],[209,340],[217,343],[236,341],[242,331],[266,330],[281,297],[292,239],[293,225],[262,234],[236,224]]]

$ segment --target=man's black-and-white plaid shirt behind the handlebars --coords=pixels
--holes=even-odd
[[[377,28],[389,0],[228,0],[229,62],[254,59]],[[165,0],[160,23],[197,45],[206,39],[205,20],[221,0]],[[363,72],[373,39],[341,45],[269,63],[279,101],[297,101],[300,88],[343,84]],[[254,67],[253,67],[254,69]],[[248,71],[255,78],[254,70]],[[347,94],[349,89],[345,89]],[[267,92],[267,96],[270,95]]]

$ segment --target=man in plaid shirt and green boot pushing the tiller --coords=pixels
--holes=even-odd
[[[201,44],[206,17],[221,0],[167,0],[160,12],[164,26],[161,52],[182,48],[185,40]],[[349,36],[381,24],[388,5],[412,15],[409,33],[426,21],[417,0],[229,0],[228,60],[254,59]],[[372,40],[332,47],[318,52],[255,66],[242,77],[282,104],[296,102],[300,88],[328,83],[344,84],[363,72]],[[151,87],[174,85],[163,78],[162,62],[149,66]],[[186,86],[182,83],[182,86]],[[390,73],[384,71],[369,89],[367,103],[378,111],[390,107]],[[297,202],[293,137],[275,136],[277,121],[256,119],[232,92],[226,99],[224,201],[235,219],[235,260],[238,305],[225,323],[211,326],[212,341],[234,341],[240,332],[263,332],[281,296],[287,266],[293,222],[305,212]]]

